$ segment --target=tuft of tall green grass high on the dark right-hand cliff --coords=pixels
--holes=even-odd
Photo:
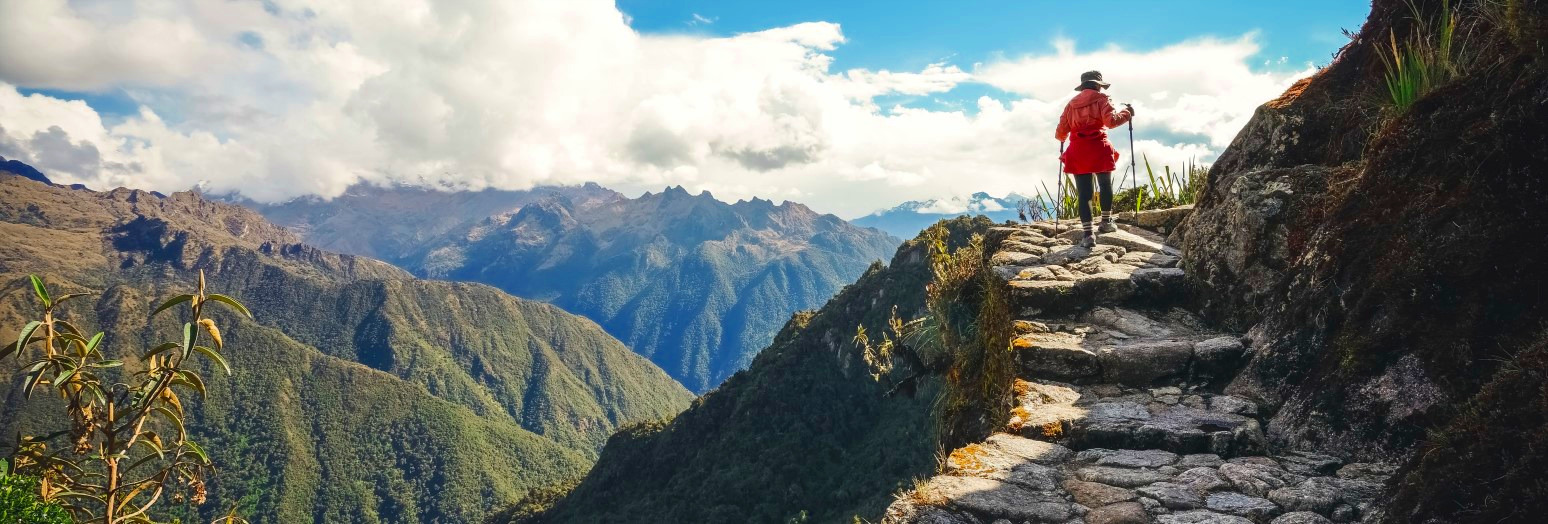
[[[1401,111],[1407,110],[1424,93],[1450,82],[1458,76],[1457,11],[1450,2],[1441,2],[1440,14],[1426,20],[1418,5],[1409,2],[1413,12],[1413,29],[1407,40],[1398,40],[1396,31],[1387,31],[1387,49],[1378,53],[1385,66],[1387,96]]]

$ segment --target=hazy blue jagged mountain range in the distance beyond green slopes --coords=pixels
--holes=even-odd
[[[797,202],[728,204],[683,187],[627,198],[596,184],[358,185],[248,204],[324,249],[588,317],[694,391],[745,368],[791,312],[820,306],[898,246]]]

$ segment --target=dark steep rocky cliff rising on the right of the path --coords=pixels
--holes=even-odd
[[[1441,2],[1375,2],[1259,108],[1172,238],[1206,320],[1246,332],[1226,391],[1272,413],[1271,447],[1404,462],[1395,522],[1529,521],[1548,510],[1529,473],[1548,467],[1548,2],[1450,5],[1464,74],[1382,104],[1376,53]]]

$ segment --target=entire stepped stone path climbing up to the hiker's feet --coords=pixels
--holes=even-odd
[[[1164,210],[1175,224],[1178,210]],[[995,227],[1020,380],[1005,433],[954,450],[885,522],[1361,522],[1392,468],[1271,450],[1262,407],[1218,393],[1243,360],[1186,298],[1176,249],[1141,213],[1093,249],[1051,223]]]

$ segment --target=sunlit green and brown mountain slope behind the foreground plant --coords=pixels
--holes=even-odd
[[[29,175],[29,173],[28,173]],[[619,427],[670,417],[692,394],[596,323],[477,283],[418,280],[302,243],[197,193],[67,189],[0,173],[0,326],[33,318],[26,275],[90,291],[71,322],[135,357],[175,331],[150,306],[209,286],[254,320],[221,317],[232,376],[189,402],[217,471],[207,522],[477,522],[534,487],[582,475]],[[206,369],[209,371],[209,369]],[[0,390],[0,427],[42,433],[50,399]]]

